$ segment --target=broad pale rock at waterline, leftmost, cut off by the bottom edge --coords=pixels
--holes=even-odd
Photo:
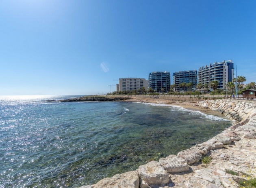
[[[100,180],[93,188],[139,188],[139,173],[130,171]]]

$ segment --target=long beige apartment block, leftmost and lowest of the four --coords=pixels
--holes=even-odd
[[[132,91],[147,89],[147,82],[145,78],[119,78],[119,91]]]

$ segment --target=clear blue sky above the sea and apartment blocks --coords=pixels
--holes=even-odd
[[[0,1],[0,95],[106,93],[224,59],[256,81],[255,0]]]

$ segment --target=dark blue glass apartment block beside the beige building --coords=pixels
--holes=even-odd
[[[167,72],[167,71],[150,72],[148,76],[148,80],[149,80],[149,88],[152,88],[153,91],[162,93],[162,88],[164,89],[163,92],[165,93],[170,91],[170,85],[171,85],[170,72]]]

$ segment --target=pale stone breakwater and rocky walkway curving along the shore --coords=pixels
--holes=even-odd
[[[237,188],[256,167],[256,104],[233,100],[200,101],[196,106],[223,113],[234,124],[207,142],[176,155],[104,178],[80,188]],[[207,131],[207,130],[206,130]],[[211,162],[202,163],[208,156]],[[232,173],[231,173],[232,172]]]

